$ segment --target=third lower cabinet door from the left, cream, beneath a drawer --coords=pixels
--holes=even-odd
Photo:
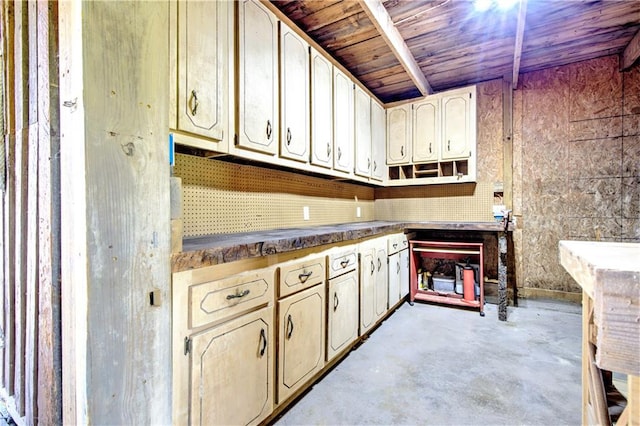
[[[358,276],[355,271],[329,280],[327,361],[358,338]]]

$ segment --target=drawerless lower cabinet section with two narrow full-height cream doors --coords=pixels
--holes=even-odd
[[[386,239],[376,238],[359,245],[360,335],[368,332],[387,312]]]

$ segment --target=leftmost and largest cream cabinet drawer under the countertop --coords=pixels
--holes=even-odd
[[[274,269],[265,268],[189,287],[189,328],[273,302]]]

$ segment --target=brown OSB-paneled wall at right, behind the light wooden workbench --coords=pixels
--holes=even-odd
[[[579,292],[561,239],[640,241],[640,71],[616,56],[523,74],[514,96],[518,285]]]

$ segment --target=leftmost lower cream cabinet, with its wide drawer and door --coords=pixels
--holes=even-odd
[[[258,424],[273,410],[275,269],[246,267],[173,274],[174,424]]]

